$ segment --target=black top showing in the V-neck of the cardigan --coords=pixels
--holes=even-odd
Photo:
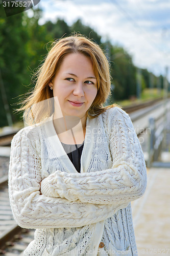
[[[82,144],[65,144],[62,143],[62,146],[67,153],[67,156],[69,157],[70,161],[74,164],[77,171],[80,173],[80,159],[83,151],[84,141]]]

